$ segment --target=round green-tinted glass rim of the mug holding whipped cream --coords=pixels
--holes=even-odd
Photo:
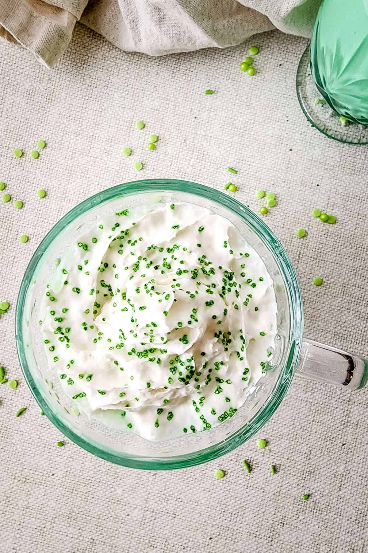
[[[57,238],[59,232],[61,232],[66,226],[70,225],[78,216],[82,215],[86,211],[89,211],[91,208],[95,208],[98,205],[103,204],[106,201],[118,197],[124,198],[125,196],[139,195],[147,192],[156,192],[157,194],[165,192],[185,192],[186,194],[192,194],[197,197],[199,196],[202,199],[211,200],[221,207],[227,208],[246,222],[247,226],[252,229],[252,231],[257,234],[260,239],[262,239],[263,243],[269,249],[271,255],[273,255],[276,263],[278,264],[280,273],[282,274],[282,278],[285,283],[290,315],[289,354],[287,356],[287,362],[285,367],[281,369],[278,381],[276,382],[275,387],[266,400],[263,408],[260,409],[258,413],[256,413],[254,417],[247,422],[246,425],[239,428],[230,436],[227,436],[218,444],[214,444],[209,447],[205,447],[202,450],[185,455],[173,455],[165,458],[147,458],[146,456],[116,453],[109,448],[103,448],[100,445],[84,440],[83,437],[76,434],[58,418],[57,414],[49,409],[49,406],[42,398],[33,375],[28,367],[24,348],[21,347],[23,344],[23,312],[26,294],[30,283],[34,279],[33,275],[35,274],[38,264],[41,262],[47,248],[49,248],[54,239]],[[274,253],[275,248],[277,251],[277,257]],[[210,187],[196,184],[195,182],[175,179],[136,180],[116,185],[89,197],[87,200],[84,200],[81,204],[78,204],[71,211],[66,213],[66,215],[63,216],[60,221],[58,221],[56,225],[46,234],[45,238],[41,241],[33,254],[33,257],[26,268],[22,284],[20,285],[15,313],[15,341],[17,344],[19,362],[22,367],[24,378],[40,408],[50,419],[52,424],[54,424],[58,430],[60,430],[74,443],[83,447],[90,453],[93,453],[93,455],[96,455],[97,457],[118,465],[150,470],[174,469],[200,465],[201,463],[205,463],[225,455],[225,453],[229,453],[258,432],[258,430],[265,424],[266,421],[269,420],[270,416],[273,415],[275,410],[278,408],[282,398],[284,398],[287,389],[289,388],[292,376],[294,375],[294,368],[300,354],[302,332],[303,309],[301,291],[297,276],[284,247],[282,247],[281,243],[270,231],[268,226],[266,226],[265,223],[260,220],[260,218],[249,208],[238,202],[233,197],[227,196],[226,194],[223,194],[223,192],[219,192],[218,190]]]

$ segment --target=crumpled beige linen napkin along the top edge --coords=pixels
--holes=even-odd
[[[77,20],[126,51],[157,56],[240,44],[273,28],[310,36],[321,0],[0,0],[0,36],[47,66]]]

